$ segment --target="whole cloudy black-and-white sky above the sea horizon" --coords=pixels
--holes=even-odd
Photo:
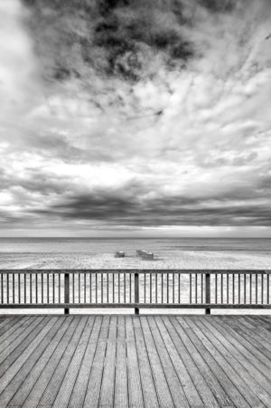
[[[271,2],[1,0],[0,236],[271,237]]]

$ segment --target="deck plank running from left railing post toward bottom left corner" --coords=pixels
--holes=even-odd
[[[70,326],[70,321],[68,318],[59,318],[59,322],[61,323],[61,327],[58,328],[55,337],[51,339],[50,343],[48,343],[48,339],[46,338],[47,347],[42,353],[38,364],[34,365],[31,371],[31,375],[28,375],[24,379],[23,384],[20,386],[19,390],[14,394],[13,399],[10,401],[10,405],[22,405],[33,389],[34,384],[36,384],[40,375],[42,375],[42,372],[45,369],[52,354],[54,353],[56,347],[61,342],[61,338],[65,335],[68,327]]]

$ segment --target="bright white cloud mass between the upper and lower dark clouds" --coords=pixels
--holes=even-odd
[[[154,60],[145,72],[152,75],[135,83],[101,78],[81,61],[81,78],[45,81],[55,53],[48,56],[44,46],[38,55],[26,30],[32,12],[19,1],[2,0],[1,184],[22,220],[25,213],[39,223],[32,211],[61,204],[65,195],[99,188],[121,196],[129,185],[138,186],[143,209],[178,195],[234,209],[245,196],[260,215],[270,200],[269,190],[266,199],[262,195],[262,179],[270,176],[271,41],[265,40],[266,3],[251,7],[231,14],[198,7],[192,26],[180,28],[196,50],[186,69],[169,69],[163,52],[148,49]],[[58,42],[56,27],[44,30]],[[0,208],[10,211],[5,200]],[[43,223],[46,215],[41,217]]]

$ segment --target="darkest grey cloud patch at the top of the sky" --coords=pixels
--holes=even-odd
[[[194,56],[182,33],[182,2],[24,0],[31,11],[37,54],[44,75],[57,81],[98,75],[138,81],[155,71],[150,59],[161,54],[168,67]],[[48,71],[49,70],[49,71]]]

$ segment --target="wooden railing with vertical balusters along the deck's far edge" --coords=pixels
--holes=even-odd
[[[271,308],[271,270],[0,270],[0,308]]]

